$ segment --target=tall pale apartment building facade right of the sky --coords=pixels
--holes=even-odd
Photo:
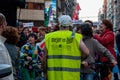
[[[114,30],[120,28],[120,0],[104,0],[101,13],[99,20],[108,19],[112,21]]]

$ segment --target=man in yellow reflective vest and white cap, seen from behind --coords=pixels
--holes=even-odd
[[[81,57],[89,55],[89,50],[82,35],[70,31],[70,16],[60,16],[59,23],[60,30],[45,36],[48,80],[80,80]]]

